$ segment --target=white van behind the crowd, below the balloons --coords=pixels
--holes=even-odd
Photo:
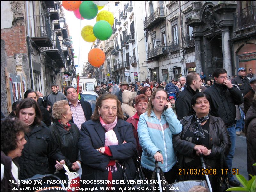
[[[77,84],[77,77],[73,78],[71,86],[75,87]],[[82,84],[82,94],[83,92],[89,91],[94,92],[97,81],[93,77],[79,76],[79,84]]]

